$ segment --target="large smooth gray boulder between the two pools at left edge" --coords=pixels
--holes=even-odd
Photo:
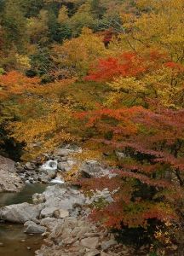
[[[43,205],[32,205],[26,202],[22,204],[2,207],[0,209],[0,219],[12,223],[24,224],[28,220],[38,218],[42,209]]]

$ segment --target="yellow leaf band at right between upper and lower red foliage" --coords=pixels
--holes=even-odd
[[[107,83],[112,92],[106,106],[118,107],[118,103],[134,102],[146,97],[157,99],[166,108],[183,108],[180,98],[184,95],[183,74],[170,67],[161,66],[158,70],[145,73],[140,78],[119,77]]]

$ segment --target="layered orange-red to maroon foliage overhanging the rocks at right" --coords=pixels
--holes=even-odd
[[[146,227],[149,219],[176,219],[177,204],[173,204],[172,195],[181,189],[182,181],[177,177],[182,179],[184,171],[184,111],[101,108],[82,113],[82,117],[88,128],[95,129],[94,147],[107,145],[124,153],[117,160],[118,167],[112,168],[117,177],[105,183],[101,179],[88,181],[90,188],[106,186],[112,190],[116,184],[120,188],[113,196],[115,202],[95,211],[93,218],[118,229],[122,224]],[[112,137],[106,139],[108,131]]]

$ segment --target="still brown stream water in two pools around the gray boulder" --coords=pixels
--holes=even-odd
[[[32,203],[32,195],[43,193],[46,184],[26,184],[20,193],[1,193],[0,207],[22,202]],[[0,256],[32,256],[43,237],[27,235],[22,224],[0,223]]]

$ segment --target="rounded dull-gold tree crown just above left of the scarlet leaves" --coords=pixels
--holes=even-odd
[[[106,56],[107,52],[102,39],[90,29],[83,28],[78,38],[55,45],[54,58],[60,67],[74,67],[78,76],[83,76],[89,67],[100,57]]]

